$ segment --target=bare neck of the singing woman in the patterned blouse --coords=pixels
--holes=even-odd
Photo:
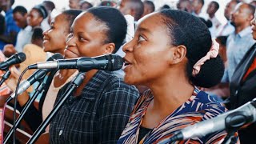
[[[166,78],[158,78],[158,82],[149,86],[154,94],[154,110],[170,114],[191,97],[194,86],[190,84],[185,73],[178,73],[169,73]]]

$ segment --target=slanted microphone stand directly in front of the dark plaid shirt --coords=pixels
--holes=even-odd
[[[34,132],[30,140],[27,142],[29,144],[33,144],[36,142],[36,140],[39,138],[39,136],[42,134],[42,131],[46,129],[46,126],[49,125],[50,121],[54,116],[58,113],[58,110],[64,105],[67,98],[69,98],[70,94],[74,91],[74,89],[81,85],[83,79],[85,78],[84,72],[79,72],[76,78],[70,83],[70,86],[66,89],[64,96],[62,99],[60,99],[56,105],[54,106],[54,109],[51,110],[50,114],[46,117],[46,120],[42,122],[42,124],[38,127],[38,129]]]

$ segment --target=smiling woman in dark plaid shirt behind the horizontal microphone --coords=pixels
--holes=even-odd
[[[75,18],[67,38],[65,58],[95,57],[116,52],[126,38],[126,19],[115,8],[95,7]],[[63,79],[75,70],[60,70]],[[50,122],[51,143],[116,143],[138,98],[134,86],[115,72],[89,70]],[[64,96],[67,83],[55,102]]]

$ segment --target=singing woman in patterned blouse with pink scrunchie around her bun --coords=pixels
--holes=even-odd
[[[125,82],[148,86],[138,99],[118,143],[166,142],[173,134],[226,109],[196,86],[210,87],[222,78],[218,43],[199,18],[180,10],[162,10],[138,22],[126,52]],[[215,143],[219,131],[178,143]]]

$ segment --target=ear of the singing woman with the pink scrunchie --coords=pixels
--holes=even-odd
[[[171,64],[177,64],[182,62],[184,58],[186,58],[186,46],[179,45],[170,48],[171,50]]]

